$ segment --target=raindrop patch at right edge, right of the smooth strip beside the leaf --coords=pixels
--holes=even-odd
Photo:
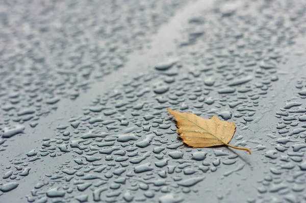
[[[306,107],[302,80],[297,81],[296,88],[296,94],[276,111],[275,117],[280,119],[276,126],[278,133],[269,134],[273,140],[272,148],[264,155],[272,166],[258,181],[260,197],[270,202],[285,199],[297,203],[306,199],[303,195],[306,184]]]

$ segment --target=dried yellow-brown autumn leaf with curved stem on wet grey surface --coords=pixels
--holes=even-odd
[[[251,154],[247,148],[239,148],[228,144],[234,136],[236,126],[234,122],[220,121],[217,117],[203,119],[193,113],[181,113],[167,108],[171,115],[174,115],[176,126],[183,142],[194,148],[208,148],[213,146],[226,145],[237,150],[245,150]]]

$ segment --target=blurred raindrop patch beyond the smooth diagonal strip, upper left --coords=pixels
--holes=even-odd
[[[78,98],[90,83],[123,67],[127,55],[148,45],[187,3],[1,3],[0,124],[35,127],[62,98]]]

